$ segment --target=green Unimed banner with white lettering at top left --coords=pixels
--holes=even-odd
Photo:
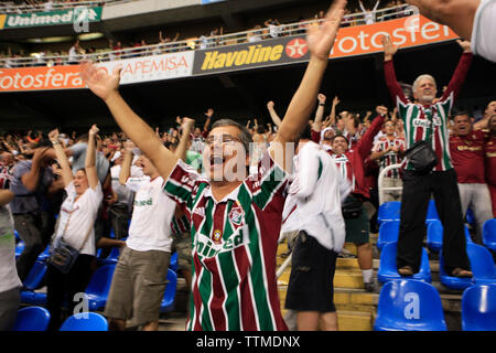
[[[40,25],[58,25],[82,22],[98,22],[101,20],[101,8],[77,7],[68,10],[50,12],[14,13],[7,14],[4,21],[0,21],[2,29],[23,29]],[[3,26],[1,25],[3,22]]]

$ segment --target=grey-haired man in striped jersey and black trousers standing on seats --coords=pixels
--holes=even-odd
[[[425,216],[431,193],[444,227],[443,258],[446,274],[472,277],[466,255],[465,234],[456,173],[450,156],[449,116],[472,62],[471,43],[457,41],[463,54],[448,88],[440,99],[430,75],[421,75],[413,83],[414,103],[403,94],[396,79],[392,56],[398,46],[389,36],[382,38],[386,85],[398,107],[398,116],[405,125],[407,149],[420,140],[429,141],[438,157],[438,164],[427,173],[413,170],[407,160],[403,171],[401,223],[398,238],[397,266],[401,276],[419,271],[422,242],[425,234]],[[435,101],[435,103],[434,103]]]

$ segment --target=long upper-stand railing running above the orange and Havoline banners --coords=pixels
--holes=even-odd
[[[397,6],[376,11],[376,19],[380,21],[412,14],[411,7],[408,4]],[[364,12],[346,15],[342,26],[365,24]],[[0,67],[30,67],[30,66],[54,66],[72,65],[82,61],[109,62],[131,57],[143,57],[151,55],[161,55],[168,53],[179,53],[194,50],[214,49],[225,45],[235,45],[240,43],[257,43],[265,40],[292,36],[305,33],[306,25],[319,25],[324,20],[301,21],[290,24],[281,24],[276,30],[260,28],[231,34],[192,38],[182,41],[162,42],[159,44],[143,45],[136,47],[122,47],[118,50],[99,50],[96,53],[78,53],[76,55],[44,55],[35,54],[29,57],[4,57],[0,58]]]

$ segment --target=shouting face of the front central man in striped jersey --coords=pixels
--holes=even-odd
[[[212,129],[203,152],[203,165],[213,182],[234,182],[246,178],[248,153],[236,126],[219,126]]]

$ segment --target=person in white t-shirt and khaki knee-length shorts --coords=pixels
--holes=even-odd
[[[147,157],[138,159],[144,175],[130,178],[131,160],[132,149],[126,148],[119,182],[136,192],[134,208],[105,315],[112,331],[123,331],[131,317],[143,331],[157,331],[171,260],[175,202],[163,192],[164,180]]]

